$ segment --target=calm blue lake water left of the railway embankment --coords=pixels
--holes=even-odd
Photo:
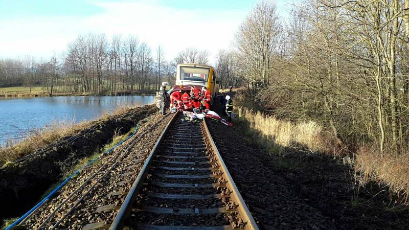
[[[97,119],[123,105],[154,103],[154,96],[74,96],[41,98],[0,98],[0,145],[18,142],[30,130],[53,121],[78,123]]]

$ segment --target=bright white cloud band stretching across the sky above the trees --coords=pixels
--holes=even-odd
[[[187,47],[215,55],[228,49],[248,10],[188,10],[156,1],[96,3],[103,13],[88,17],[37,17],[0,21],[0,57],[50,57],[82,33],[138,35],[154,51],[162,45],[172,59]]]

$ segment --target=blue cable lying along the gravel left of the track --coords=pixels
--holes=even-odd
[[[122,140],[121,142],[119,142],[118,144],[116,144],[115,146],[113,146],[112,148],[108,149],[107,151],[105,151],[105,153],[109,153],[111,152],[113,149],[117,148],[118,146],[120,146],[122,143],[124,143],[125,141],[127,141],[128,139],[130,139],[135,133],[137,133],[139,128],[139,122],[137,124],[137,126],[135,127],[135,131],[133,131],[128,137],[126,137],[126,139]],[[81,169],[75,171],[73,174],[71,174],[69,177],[67,177],[64,181],[62,181],[62,183],[60,183],[60,185],[54,189],[50,194],[48,194],[44,199],[42,199],[40,202],[38,202],[30,211],[28,211],[26,214],[22,215],[20,218],[18,218],[18,220],[14,221],[14,223],[12,223],[11,225],[9,225],[5,230],[10,230],[11,228],[13,228],[14,226],[16,226],[18,223],[20,223],[22,220],[26,219],[30,214],[32,214],[36,209],[39,208],[39,206],[41,206],[44,202],[46,202],[48,199],[50,199],[56,192],[58,192],[58,190],[60,190],[62,187],[64,187],[64,185],[70,181],[75,175],[77,175],[78,173],[80,173],[85,167],[93,164],[94,162],[96,162],[98,159],[100,158],[100,156],[98,156],[95,159],[90,160],[84,167],[82,167]]]

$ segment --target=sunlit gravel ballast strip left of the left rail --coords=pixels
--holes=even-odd
[[[144,119],[135,135],[81,171],[23,225],[30,229],[55,224],[70,229],[109,227],[107,224],[115,218],[124,196],[170,119],[171,116],[158,113]]]

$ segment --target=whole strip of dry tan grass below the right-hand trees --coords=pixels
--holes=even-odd
[[[267,116],[259,111],[242,107],[238,101],[235,112],[237,122],[243,122],[247,127],[247,135],[265,148],[269,154],[277,154],[285,162],[285,153],[307,151],[314,154],[325,154],[333,158],[342,158],[334,148],[335,141],[328,135],[325,127],[314,121],[290,122]],[[253,105],[254,106],[254,105]],[[348,158],[349,159],[349,158]],[[354,169],[353,186],[365,186],[369,182],[378,183],[380,187],[387,186],[396,195],[398,203],[409,205],[409,153],[380,154],[376,147],[361,146],[348,164]],[[357,189],[359,191],[359,189]]]

